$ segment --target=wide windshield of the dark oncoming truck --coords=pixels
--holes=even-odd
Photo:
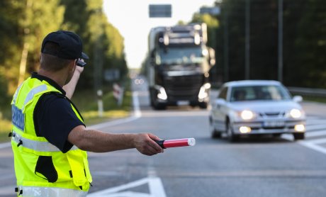
[[[203,60],[201,47],[167,47],[157,55],[158,64],[198,64]]]

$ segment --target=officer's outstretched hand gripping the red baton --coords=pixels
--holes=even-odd
[[[160,139],[156,135],[152,135],[150,133],[139,133],[135,135],[134,145],[139,152],[149,156],[164,152],[162,147],[157,145],[157,142],[154,140]]]

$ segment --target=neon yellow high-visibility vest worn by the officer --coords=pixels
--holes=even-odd
[[[33,112],[40,96],[62,94],[47,81],[28,78],[11,102],[12,137],[18,196],[86,196],[91,184],[87,154],[73,146],[62,153],[45,137],[35,134]],[[69,99],[68,99],[69,100]],[[70,101],[69,101],[70,102]],[[71,104],[79,120],[77,109]]]

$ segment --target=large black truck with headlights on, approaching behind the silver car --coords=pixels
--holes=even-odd
[[[215,50],[208,47],[207,39],[206,23],[150,30],[146,73],[152,108],[208,107]]]

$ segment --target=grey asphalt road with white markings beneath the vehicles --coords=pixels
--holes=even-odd
[[[307,137],[260,137],[230,143],[211,139],[208,111],[188,106],[153,111],[146,86],[134,84],[130,118],[90,128],[112,133],[151,132],[162,139],[196,138],[147,157],[136,150],[89,153],[91,197],[99,196],[326,196],[326,106],[303,102]],[[14,196],[11,148],[0,149],[0,196]],[[0,147],[1,147],[0,146]]]

